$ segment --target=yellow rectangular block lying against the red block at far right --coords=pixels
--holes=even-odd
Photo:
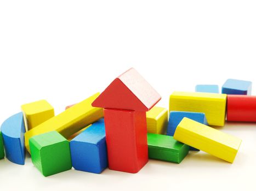
[[[173,92],[169,111],[202,112],[212,126],[224,126],[226,120],[226,94],[201,92]]]

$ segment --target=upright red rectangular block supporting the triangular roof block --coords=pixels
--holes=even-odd
[[[136,173],[147,163],[146,112],[105,109],[109,169]]]

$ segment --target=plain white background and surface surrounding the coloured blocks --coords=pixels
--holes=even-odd
[[[0,123],[20,105],[66,105],[137,69],[162,95],[227,78],[253,81],[255,1],[0,1]],[[243,140],[234,164],[190,153],[181,164],[150,160],[138,174],[70,170],[43,177],[0,161],[1,190],[255,190],[255,124],[219,128]]]

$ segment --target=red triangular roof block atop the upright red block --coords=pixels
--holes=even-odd
[[[134,68],[118,76],[94,100],[98,108],[149,111],[161,99],[155,89]]]

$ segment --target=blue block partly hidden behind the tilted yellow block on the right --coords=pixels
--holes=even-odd
[[[186,111],[170,111],[169,122],[167,127],[167,135],[173,136],[178,124],[183,120],[184,117],[195,120],[199,123],[208,124],[206,115],[200,112],[186,112]],[[194,147],[190,147],[191,151],[199,151]]]

